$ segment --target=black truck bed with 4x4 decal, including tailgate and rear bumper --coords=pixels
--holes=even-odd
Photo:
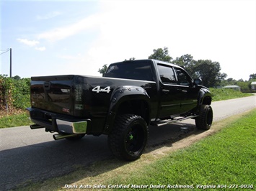
[[[134,86],[136,88],[128,88]],[[27,111],[30,113],[31,120],[38,125],[33,126],[33,129],[45,127],[46,131],[65,134],[108,134],[107,128],[109,126],[106,124],[106,119],[113,113],[109,110],[114,109],[110,107],[110,104],[114,106],[115,101],[119,98],[123,98],[123,102],[138,99],[141,94],[130,95],[133,93],[133,89],[134,93],[141,93],[142,95],[145,95],[146,90],[149,90],[152,101],[151,114],[155,116],[157,93],[154,81],[86,75],[32,77],[30,85],[31,108],[27,108]],[[134,105],[136,101],[132,103]],[[123,107],[131,107],[129,104],[123,104]],[[115,112],[112,116],[115,116]],[[86,130],[74,130],[74,126],[79,126],[78,123],[81,121],[86,124]],[[71,131],[65,130],[65,126]]]

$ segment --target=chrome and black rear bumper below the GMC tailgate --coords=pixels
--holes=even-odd
[[[91,124],[88,118],[77,118],[74,116],[64,116],[58,113],[50,113],[37,108],[27,108],[27,115],[37,127],[45,127],[45,131],[56,131],[61,134],[87,134],[87,129]]]

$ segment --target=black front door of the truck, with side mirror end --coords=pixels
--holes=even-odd
[[[178,85],[177,91],[180,94],[180,113],[187,113],[197,106],[198,88],[193,84],[190,76],[180,67],[174,67]]]

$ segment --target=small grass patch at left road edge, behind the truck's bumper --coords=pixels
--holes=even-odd
[[[32,124],[25,113],[0,118],[0,129],[14,126],[27,126]]]

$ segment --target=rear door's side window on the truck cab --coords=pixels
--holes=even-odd
[[[175,73],[172,67],[165,65],[157,65],[157,67],[162,83],[177,84]]]

